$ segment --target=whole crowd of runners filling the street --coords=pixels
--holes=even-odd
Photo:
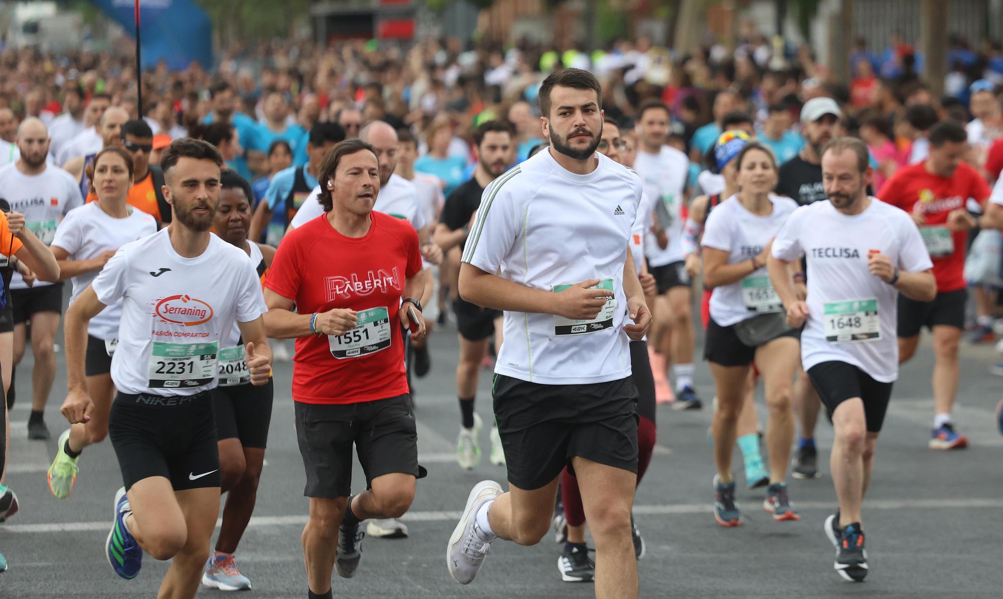
[[[273,401],[291,395],[308,596],[331,597],[366,536],[409,534],[401,517],[426,475],[413,381],[454,323],[456,464],[476,468],[483,447],[507,483],[476,485],[442,540],[457,582],[473,582],[499,540],[553,531],[564,581],[637,596],[632,505],[663,404],[713,411],[706,501],[722,527],[747,509],[735,447],[777,526],[800,520],[785,480],[818,477],[824,409],[835,509],[817,525],[835,572],[868,575],[876,445],[924,329],[936,356],[926,441],[968,444],[952,409],[966,327],[973,343],[994,338],[999,265],[974,279],[969,268],[979,238],[1003,228],[999,87],[973,82],[963,118],[910,88],[903,144],[887,116],[807,85],[796,106],[783,96],[761,110],[764,89],[755,101],[721,90],[714,120],[689,129],[693,96],[647,97],[627,115],[589,70],[531,87],[504,114],[482,105],[468,136],[424,100],[416,119],[393,115],[366,87],[301,96],[294,113],[278,85],[248,113],[221,79],[184,126],[181,98],[140,115],[78,82],[60,90],[60,116],[0,108],[0,125],[4,111],[16,121],[0,167],[5,405],[30,349],[27,436],[54,440],[46,477],[67,505],[90,484],[77,481],[89,446],[112,445],[115,574],[135,578],[146,555],[171,560],[162,597],[251,588],[235,554]],[[58,351],[66,424],[44,418],[63,396]],[[292,380],[273,378],[273,360],[291,356]],[[712,398],[694,384],[703,364]],[[485,366],[489,431],[474,411]],[[4,470],[18,459],[6,422]],[[353,445],[367,483],[354,493]],[[0,522],[18,510],[0,483]]]

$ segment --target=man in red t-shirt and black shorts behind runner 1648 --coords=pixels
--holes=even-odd
[[[958,342],[965,327],[965,242],[976,225],[968,200],[985,204],[990,189],[979,173],[963,163],[968,151],[964,127],[938,123],[930,130],[930,155],[923,162],[900,169],[882,186],[878,196],[913,215],[934,262],[937,297],[930,303],[899,296],[899,361],[916,354],[923,327],[934,336],[934,431],[931,449],[967,447],[951,423],[958,393]]]

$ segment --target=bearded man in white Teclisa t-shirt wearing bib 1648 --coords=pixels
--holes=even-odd
[[[828,201],[801,206],[784,223],[767,258],[770,280],[792,327],[804,325],[801,362],[835,429],[830,467],[840,509],[825,520],[835,571],[864,580],[869,571],[861,503],[874,450],[899,376],[899,293],[937,294],[933,262],[912,217],[867,195],[867,145],[840,137],[821,152]],[[807,301],[787,265],[804,256]]]

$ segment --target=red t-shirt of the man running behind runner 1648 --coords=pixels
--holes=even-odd
[[[892,178],[885,181],[878,197],[910,213],[922,198],[926,214],[925,226],[933,227],[946,224],[947,215],[953,210],[964,208],[970,197],[982,203],[990,192],[989,184],[968,164],[961,163],[953,176],[945,177],[931,174],[927,171],[925,162],[918,162],[900,168]],[[965,282],[967,234],[961,230],[952,231],[954,251],[943,257],[931,256],[938,292],[955,291],[968,286]],[[930,246],[928,243],[927,247]]]

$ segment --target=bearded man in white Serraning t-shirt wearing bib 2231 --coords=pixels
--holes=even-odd
[[[124,487],[115,494],[105,542],[119,577],[139,573],[142,552],[173,559],[160,596],[194,597],[220,507],[220,456],[211,390],[220,346],[234,323],[255,385],[268,383],[272,354],[265,303],[248,254],[210,231],[223,156],[183,138],[160,161],[171,225],[123,245],[66,313],[62,413],[85,423],[94,405],[84,383],[87,325],[119,300],[122,317],[111,378],[118,395],[108,434]]]

